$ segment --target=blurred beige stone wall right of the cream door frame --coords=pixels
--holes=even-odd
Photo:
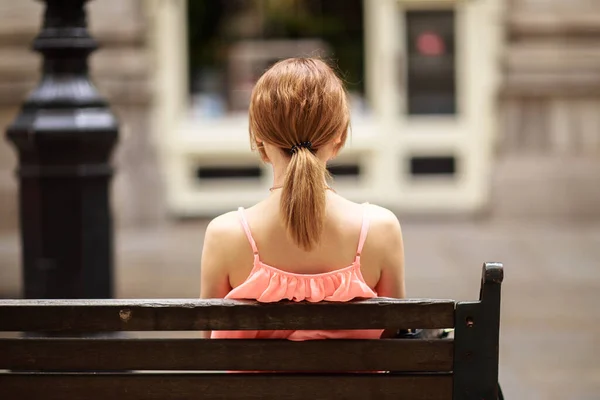
[[[511,0],[497,216],[600,218],[600,2]]]

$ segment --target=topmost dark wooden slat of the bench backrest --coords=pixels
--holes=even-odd
[[[452,300],[2,300],[0,331],[449,328]]]

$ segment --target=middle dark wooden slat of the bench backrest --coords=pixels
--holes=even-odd
[[[452,340],[0,339],[0,369],[450,371]]]

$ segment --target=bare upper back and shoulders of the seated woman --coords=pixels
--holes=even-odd
[[[305,251],[286,233],[278,214],[278,201],[277,194],[274,194],[242,211],[243,214],[232,212],[211,222],[207,236],[212,239],[207,237],[205,249],[211,246],[210,255],[213,257],[210,257],[212,260],[203,257],[203,278],[205,275],[227,276],[227,282],[221,285],[220,294],[223,296],[214,297],[224,297],[231,289],[247,282],[257,266],[281,271],[288,276],[354,271],[370,290],[378,291],[382,288],[382,273],[390,275],[384,271],[386,264],[390,267],[401,264],[400,227],[391,212],[373,205],[352,203],[329,193],[319,245]],[[357,257],[358,253],[360,257]],[[204,269],[210,269],[214,264],[220,265],[214,268],[222,270],[205,273]],[[229,290],[223,293],[225,283]],[[389,292],[386,287],[383,289]],[[205,290],[203,297],[207,297]]]

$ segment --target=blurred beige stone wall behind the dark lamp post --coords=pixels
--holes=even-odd
[[[30,51],[42,21],[38,1],[0,0],[0,127],[13,120],[39,79],[40,56]],[[117,223],[155,224],[163,218],[157,156],[149,132],[152,54],[148,50],[144,0],[102,0],[88,5],[92,35],[101,49],[91,57],[91,74],[121,121],[114,154],[117,175],[113,209]],[[16,157],[0,141],[0,230],[17,226]]]

